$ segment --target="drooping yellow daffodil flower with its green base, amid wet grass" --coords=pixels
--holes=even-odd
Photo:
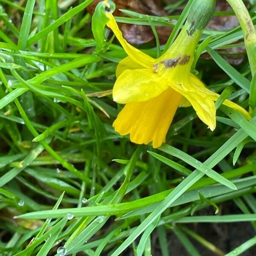
[[[202,6],[203,2],[205,6]],[[212,17],[214,6],[214,0],[200,1],[199,14],[198,6],[194,6],[175,42],[157,59],[128,44],[113,15],[106,13],[109,19],[107,26],[128,54],[116,69],[113,100],[125,104],[125,107],[113,123],[115,131],[121,135],[130,134],[134,143],[152,142],[153,147],[157,148],[165,142],[177,108],[190,105],[212,131],[215,129],[214,102],[219,94],[207,89],[190,72],[195,48],[202,30]],[[239,105],[229,100],[223,104],[250,119],[247,111]]]

